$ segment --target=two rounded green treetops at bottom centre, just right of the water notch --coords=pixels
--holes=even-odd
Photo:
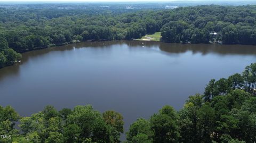
[[[138,119],[127,132],[127,142],[179,142],[178,114],[164,106],[150,120]]]

